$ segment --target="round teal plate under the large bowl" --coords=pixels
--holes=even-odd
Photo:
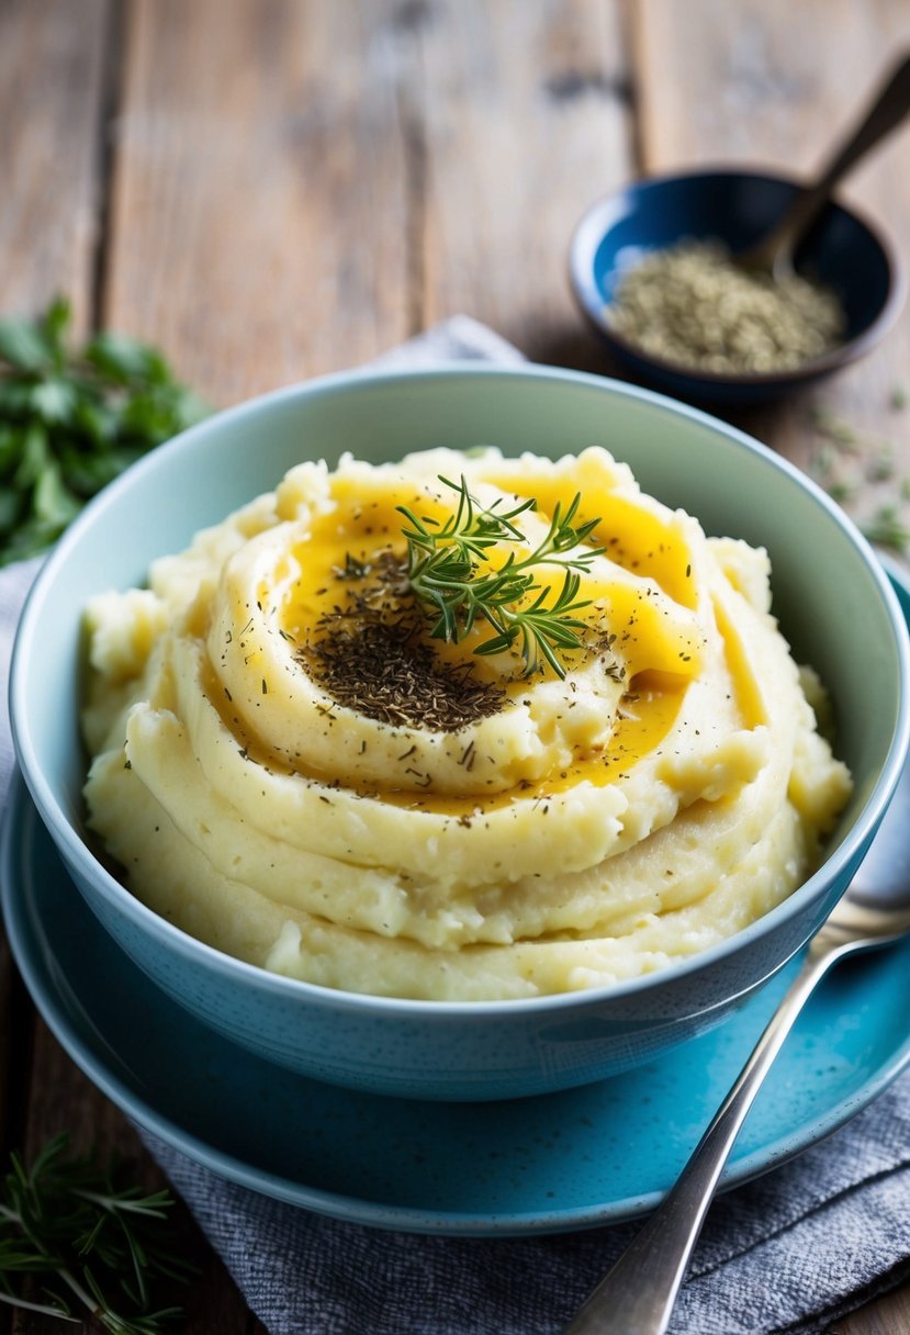
[[[339,1219],[463,1236],[560,1232],[651,1210],[783,993],[790,964],[719,1028],[566,1093],[436,1104],[294,1075],[193,1020],[109,939],[21,781],[0,848],[25,984],[128,1117],[232,1181]],[[837,968],[743,1128],[725,1185],[829,1135],[910,1061],[910,940]]]

